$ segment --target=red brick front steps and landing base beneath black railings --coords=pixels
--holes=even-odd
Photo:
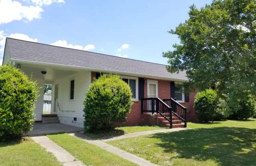
[[[156,125],[170,128],[170,122],[162,117],[160,114],[143,113],[142,114],[143,124]],[[177,116],[172,115],[172,128],[183,128],[184,123]]]

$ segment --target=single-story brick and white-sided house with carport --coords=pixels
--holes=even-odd
[[[63,124],[83,127],[85,93],[100,72],[120,75],[132,90],[132,110],[127,122],[119,125],[184,127],[182,123],[196,119],[195,93],[185,95],[175,86],[188,80],[186,72],[170,73],[162,64],[6,38],[3,65],[8,63],[32,74],[40,87],[52,85],[48,116],[56,116]],[[44,88],[39,94],[34,114],[42,122],[47,118],[43,115]]]

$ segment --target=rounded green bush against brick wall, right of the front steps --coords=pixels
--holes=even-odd
[[[218,95],[214,90],[205,90],[196,94],[194,108],[200,122],[214,120],[218,108],[218,100]]]

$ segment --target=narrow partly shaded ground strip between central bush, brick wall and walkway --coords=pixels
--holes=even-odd
[[[115,128],[114,131],[101,132],[98,134],[85,132],[85,135],[91,138],[101,138],[106,136],[118,136],[118,135],[130,134],[134,132],[143,132],[143,131],[158,130],[158,129],[164,129],[164,128],[159,126],[127,126],[127,127],[117,127]]]

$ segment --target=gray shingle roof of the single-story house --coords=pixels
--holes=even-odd
[[[12,38],[6,38],[6,44],[10,51],[10,59],[15,60],[27,60],[187,80],[185,71],[179,72],[178,74],[169,73],[166,70],[166,66],[162,64],[27,42]]]

